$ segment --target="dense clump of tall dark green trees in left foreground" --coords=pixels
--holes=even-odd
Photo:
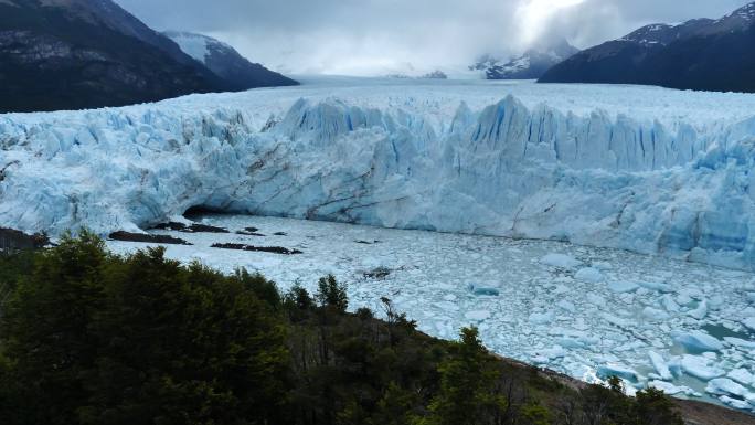
[[[274,284],[126,258],[82,232],[39,255],[2,317],[4,424],[273,424],[290,359]],[[265,295],[262,300],[259,295]],[[12,395],[12,394],[11,394]],[[13,422],[11,422],[13,421]]]

